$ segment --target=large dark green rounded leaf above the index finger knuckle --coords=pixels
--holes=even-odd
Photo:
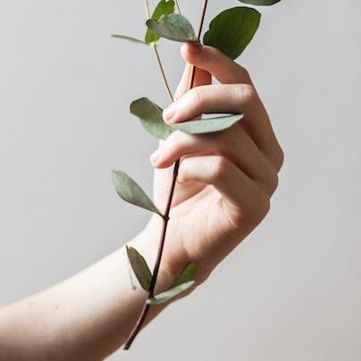
[[[248,46],[261,21],[261,14],[249,7],[233,7],[217,15],[203,42],[236,59]]]

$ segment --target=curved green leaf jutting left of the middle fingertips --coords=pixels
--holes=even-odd
[[[153,103],[147,97],[134,100],[130,105],[130,113],[139,117],[144,128],[157,139],[167,139],[174,130],[165,124],[163,109]]]

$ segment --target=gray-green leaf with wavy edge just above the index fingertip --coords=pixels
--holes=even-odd
[[[181,43],[199,44],[192,25],[179,13],[165,15],[160,21],[149,19],[147,20],[147,27],[160,38],[167,38]]]

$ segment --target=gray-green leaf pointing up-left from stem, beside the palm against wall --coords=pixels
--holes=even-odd
[[[154,203],[147,197],[147,194],[129,175],[122,171],[112,172],[115,190],[122,199],[135,206],[140,206],[148,211],[163,216]]]

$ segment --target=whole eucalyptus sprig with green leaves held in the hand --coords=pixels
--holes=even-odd
[[[144,40],[122,34],[116,34],[113,35],[113,37],[130,40],[153,48],[160,74],[164,80],[164,87],[171,101],[173,101],[172,91],[165,76],[163,63],[157,49],[157,44],[160,39],[164,38],[181,43],[188,42],[197,46],[202,46],[203,43],[207,46],[214,46],[231,59],[236,59],[242,54],[252,38],[254,38],[261,20],[261,14],[252,7],[237,6],[227,9],[214,17],[203,37],[203,41],[201,41],[208,0],[202,0],[202,10],[197,35],[189,20],[181,13],[180,4],[178,4],[177,0],[160,0],[155,6],[153,13],[150,12],[148,0],[143,1],[147,15],[147,31]],[[239,0],[240,3],[252,5],[273,5],[279,1],[281,0]],[[196,68],[192,67],[189,88],[193,88],[195,71]],[[242,114],[230,114],[207,118],[206,120],[182,122],[170,126],[163,121],[163,109],[147,97],[134,100],[130,104],[130,113],[136,115],[143,127],[157,139],[167,139],[175,130],[181,130],[190,134],[206,134],[222,131],[232,127],[236,122],[240,122],[243,119]],[[137,337],[147,318],[150,306],[164,304],[179,297],[181,293],[189,290],[196,282],[196,264],[185,264],[171,288],[155,295],[155,284],[162,261],[165,236],[170,220],[169,215],[179,167],[180,159],[173,165],[172,184],[164,213],[155,206],[147,194],[125,172],[113,171],[113,183],[118,195],[126,202],[159,215],[164,222],[153,273],[150,271],[147,261],[139,254],[137,249],[131,247],[126,248],[133,273],[137,277],[140,286],[147,291],[148,296],[139,315],[139,319],[130,332],[128,340],[125,342],[124,349],[129,349],[133,340]]]

